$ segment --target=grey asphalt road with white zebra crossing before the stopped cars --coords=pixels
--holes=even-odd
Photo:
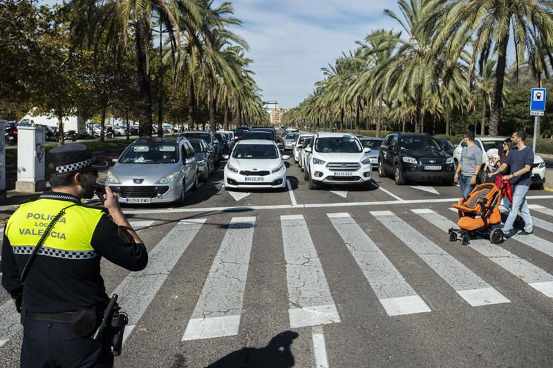
[[[456,186],[377,177],[310,191],[227,192],[219,169],[185,206],[126,207],[149,267],[104,262],[129,312],[118,367],[550,366],[553,195],[534,233],[449,242]],[[184,339],[184,340],[183,340]],[[0,366],[21,328],[0,291]]]

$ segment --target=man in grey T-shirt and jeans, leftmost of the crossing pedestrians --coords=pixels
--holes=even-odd
[[[462,197],[467,200],[471,191],[476,186],[476,178],[482,167],[482,150],[474,143],[474,133],[467,132],[463,137],[465,147],[462,148],[461,157],[453,180],[459,183]]]

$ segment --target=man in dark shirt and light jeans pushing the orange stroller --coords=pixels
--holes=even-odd
[[[532,148],[524,144],[526,133],[518,130],[511,137],[512,149],[505,158],[505,162],[501,164],[496,171],[503,173],[507,168],[510,169],[509,175],[503,175],[503,180],[509,180],[513,187],[513,202],[509,216],[503,226],[503,233],[508,238],[512,235],[513,224],[518,216],[518,211],[524,220],[524,229],[522,235],[531,235],[534,233],[532,224],[532,216],[528,209],[526,201],[526,193],[530,185],[532,185],[532,166],[534,165],[534,151]]]

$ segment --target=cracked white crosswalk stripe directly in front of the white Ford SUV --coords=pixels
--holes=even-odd
[[[327,216],[388,316],[431,311],[348,213],[327,213]]]

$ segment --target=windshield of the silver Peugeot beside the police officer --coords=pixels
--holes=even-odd
[[[176,144],[133,144],[126,148],[122,164],[174,164],[178,162]]]

